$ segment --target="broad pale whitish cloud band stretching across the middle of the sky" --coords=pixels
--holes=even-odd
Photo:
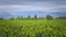
[[[0,10],[14,11],[58,11],[56,9],[66,8],[66,4],[56,4],[52,2],[25,2],[28,4],[7,4],[0,5]]]

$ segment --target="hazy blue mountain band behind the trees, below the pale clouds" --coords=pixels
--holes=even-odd
[[[61,16],[66,16],[66,12],[44,12],[44,11],[19,11],[19,12],[0,12],[0,17],[9,18],[9,17],[16,17],[19,15],[22,15],[23,17],[34,16],[37,15],[37,17],[44,17],[47,14],[51,14],[54,17],[61,17]]]

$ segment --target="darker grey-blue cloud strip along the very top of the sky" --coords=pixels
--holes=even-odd
[[[54,2],[66,4],[66,0],[0,0],[0,4],[28,4],[30,2]]]

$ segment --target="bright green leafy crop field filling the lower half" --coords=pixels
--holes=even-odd
[[[0,37],[66,37],[66,20],[0,20]]]

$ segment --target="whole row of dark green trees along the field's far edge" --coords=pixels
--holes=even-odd
[[[31,15],[28,15],[28,17],[23,17],[22,15],[19,15],[18,17],[10,17],[9,20],[54,20],[54,17],[52,15],[46,15],[45,17],[41,16],[37,17],[37,15],[34,15],[33,17]],[[63,20],[66,18],[65,16],[59,16],[59,17],[55,17],[55,20]],[[4,20],[3,17],[0,17],[0,20]]]

